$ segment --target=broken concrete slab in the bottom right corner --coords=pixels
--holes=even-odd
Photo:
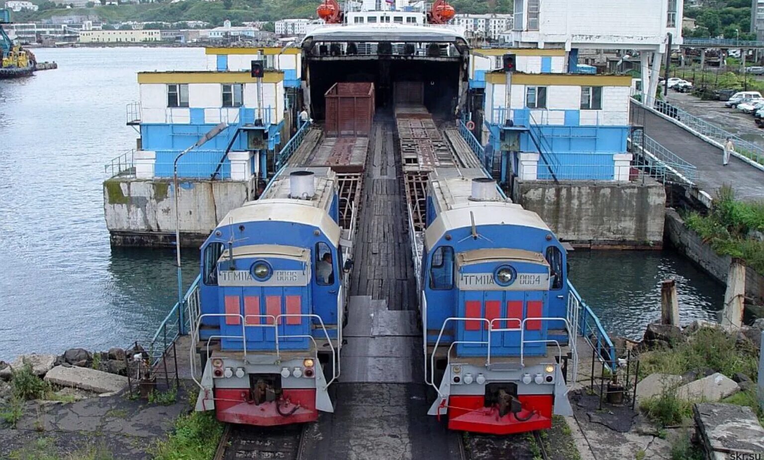
[[[740,458],[754,458],[764,452],[764,428],[750,407],[698,403],[692,412],[707,458],[737,458],[730,452],[751,454]]]

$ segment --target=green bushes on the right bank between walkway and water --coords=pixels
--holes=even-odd
[[[717,254],[742,258],[764,274],[764,241],[751,235],[764,232],[764,202],[738,201],[730,186],[722,186],[708,215],[688,212],[684,219]]]

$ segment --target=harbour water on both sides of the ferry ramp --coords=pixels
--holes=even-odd
[[[0,82],[0,359],[150,337],[176,301],[172,250],[110,248],[104,164],[135,146],[125,105],[141,70],[199,70],[201,48],[34,50],[57,70]],[[196,251],[183,257],[188,284]],[[577,251],[571,279],[613,333],[638,337],[678,280],[683,321],[712,319],[723,287],[671,251]]]

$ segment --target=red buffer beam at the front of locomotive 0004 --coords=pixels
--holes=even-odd
[[[448,429],[508,435],[552,428],[552,395],[529,394],[517,397],[522,410],[505,412],[497,404],[485,407],[483,396],[448,398]]]

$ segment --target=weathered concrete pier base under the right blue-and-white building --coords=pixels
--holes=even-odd
[[[662,248],[662,184],[516,180],[514,201],[564,241],[590,248]]]

